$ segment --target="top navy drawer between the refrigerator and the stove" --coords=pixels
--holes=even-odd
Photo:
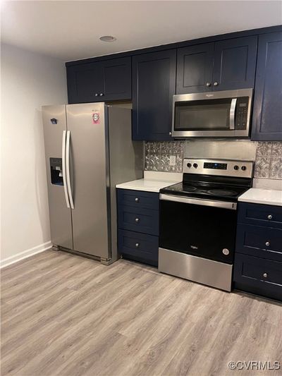
[[[136,210],[159,210],[159,193],[118,189],[118,206],[124,205],[135,207]]]

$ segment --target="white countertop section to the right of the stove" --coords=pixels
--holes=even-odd
[[[238,201],[282,206],[282,190],[250,188],[240,195]]]

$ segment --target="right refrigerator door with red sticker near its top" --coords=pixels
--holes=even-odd
[[[73,249],[109,259],[111,214],[105,106],[103,103],[68,104],[66,113]]]

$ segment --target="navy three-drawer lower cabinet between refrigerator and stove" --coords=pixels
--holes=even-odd
[[[158,266],[159,193],[118,189],[118,252]]]

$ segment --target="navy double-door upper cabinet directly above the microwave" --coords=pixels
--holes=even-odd
[[[257,37],[178,49],[177,94],[254,87]]]

